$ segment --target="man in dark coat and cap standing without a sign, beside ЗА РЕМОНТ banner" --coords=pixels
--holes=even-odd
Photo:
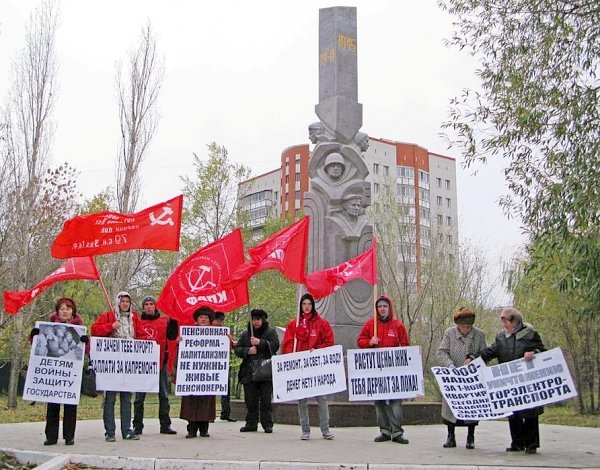
[[[246,403],[246,424],[240,432],[253,432],[258,429],[258,421],[266,433],[273,432],[271,394],[273,382],[252,380],[252,362],[268,359],[279,349],[279,338],[274,328],[269,327],[267,312],[253,309],[248,329],[242,333],[235,347],[235,355],[243,359],[238,378],[244,385]]]

